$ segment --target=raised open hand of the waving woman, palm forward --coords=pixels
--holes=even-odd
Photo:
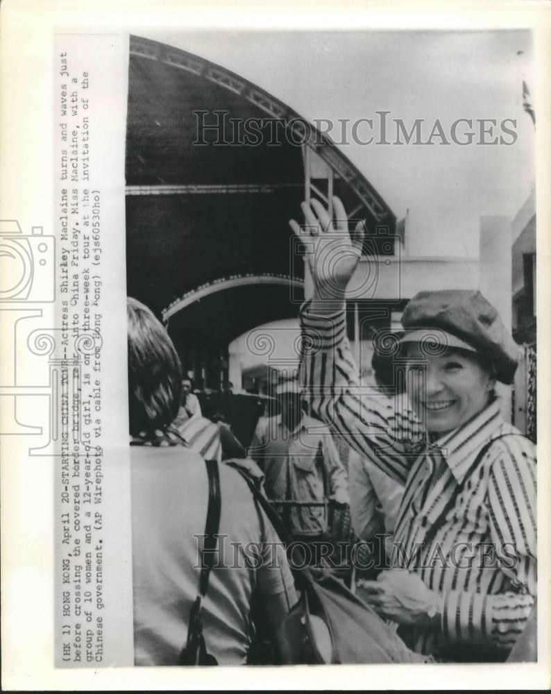
[[[327,304],[344,300],[346,285],[353,276],[362,255],[364,223],[358,222],[348,232],[348,217],[339,198],[333,198],[334,220],[317,200],[301,203],[303,228],[291,219],[289,224],[307,247],[307,258],[314,281],[314,301]]]

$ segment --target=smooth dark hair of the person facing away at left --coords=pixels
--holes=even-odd
[[[130,434],[167,427],[178,414],[182,367],[167,331],[153,312],[127,298]]]

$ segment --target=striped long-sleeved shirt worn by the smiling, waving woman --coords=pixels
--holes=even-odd
[[[306,304],[301,321],[300,373],[312,412],[405,484],[393,566],[414,570],[443,598],[440,625],[404,629],[405,641],[423,653],[470,644],[506,654],[536,595],[534,444],[494,401],[429,445],[405,398],[357,385],[344,312],[315,316]],[[495,441],[473,470],[485,443],[503,434],[514,435]]]

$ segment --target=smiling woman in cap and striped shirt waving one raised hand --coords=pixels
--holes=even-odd
[[[305,396],[334,432],[405,484],[391,568],[358,593],[418,652],[504,660],[536,595],[535,447],[502,419],[494,388],[511,384],[516,344],[480,292],[422,291],[405,308],[396,357],[407,398],[359,387],[344,297],[363,224],[349,235],[338,198],[336,223],[318,201],[302,207],[314,283],[300,312]],[[296,221],[291,228],[304,240]]]

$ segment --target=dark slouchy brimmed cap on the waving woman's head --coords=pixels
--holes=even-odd
[[[518,345],[480,291],[420,291],[405,307],[402,325],[402,342],[432,339],[477,352],[493,365],[495,378],[502,383],[513,382]]]

